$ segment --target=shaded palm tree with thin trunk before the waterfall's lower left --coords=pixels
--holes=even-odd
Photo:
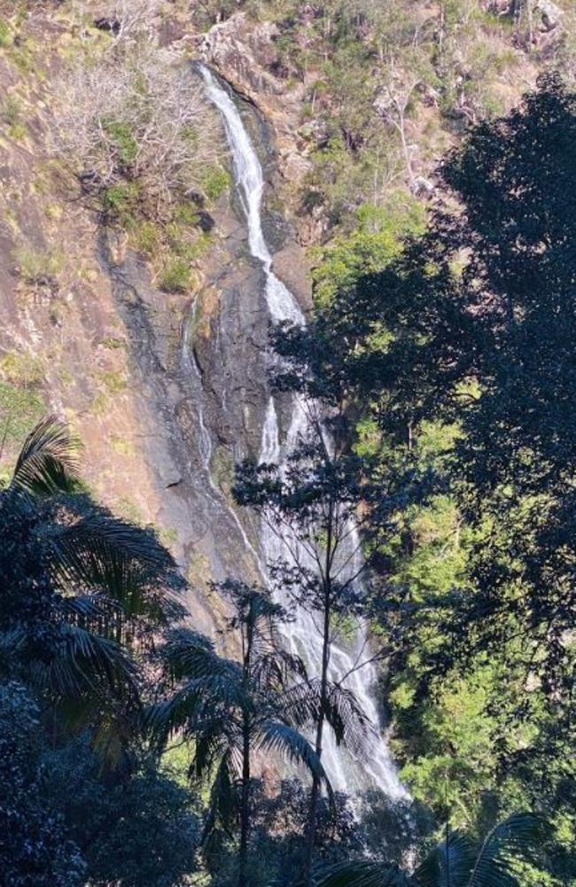
[[[161,744],[173,734],[193,740],[190,774],[211,781],[204,837],[216,826],[231,833],[239,824],[238,883],[245,887],[254,754],[288,757],[331,789],[320,758],[290,717],[294,709],[299,719],[306,712],[310,719],[318,698],[306,683],[304,663],[281,646],[286,612],[264,591],[240,582],[219,589],[233,605],[225,632],[238,640],[239,658],[217,655],[211,641],[190,629],[171,632],[164,657],[178,687],[152,707],[149,719]]]

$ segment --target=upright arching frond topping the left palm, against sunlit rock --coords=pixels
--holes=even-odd
[[[40,496],[71,492],[78,479],[80,443],[55,416],[40,421],[28,435],[14,467],[12,488]]]

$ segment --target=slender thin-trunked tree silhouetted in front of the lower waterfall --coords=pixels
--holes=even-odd
[[[375,725],[359,703],[358,694],[365,691],[357,679],[362,668],[389,649],[381,643],[370,650],[364,630],[373,605],[380,603],[368,587],[369,567],[383,540],[398,530],[401,506],[407,498],[422,495],[423,488],[407,464],[392,471],[354,451],[345,397],[335,388],[323,388],[320,377],[311,378],[308,341],[305,331],[296,327],[283,327],[277,334],[276,349],[284,363],[275,382],[281,389],[304,392],[296,405],[302,413],[300,419],[296,413],[296,423],[293,420],[284,459],[242,464],[234,495],[242,506],[256,510],[271,534],[266,553],[272,584],[295,600],[299,632],[291,634],[299,635],[309,658],[316,660],[316,755],[325,755],[329,729],[336,745],[369,756]],[[363,640],[349,655],[343,636],[359,628]],[[312,878],[320,789],[316,774],[307,824],[307,883]]]

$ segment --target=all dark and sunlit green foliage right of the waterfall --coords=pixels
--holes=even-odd
[[[380,460],[381,478],[398,481],[406,461],[429,473],[430,498],[403,500],[399,487],[390,538],[368,549],[377,618],[398,642],[386,688],[416,797],[476,834],[511,809],[544,808],[564,836],[553,853],[564,878],[575,134],[574,96],[544,78],[447,159],[455,194],[428,232],[383,271],[344,278],[307,330],[276,340],[280,388],[347,404],[363,465]],[[454,196],[461,209],[448,212]]]

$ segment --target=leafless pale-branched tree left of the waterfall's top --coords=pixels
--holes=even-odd
[[[221,130],[191,67],[150,38],[157,5],[110,4],[108,48],[96,61],[83,54],[57,83],[53,142],[96,189],[138,181],[160,211],[199,187],[217,162]]]

